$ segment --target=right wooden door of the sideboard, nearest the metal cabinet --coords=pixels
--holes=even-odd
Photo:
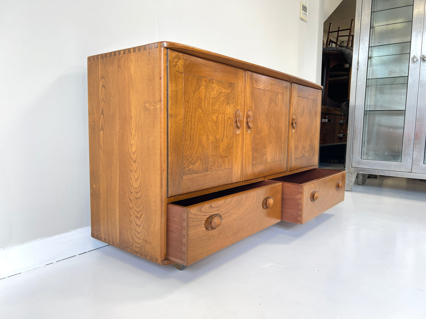
[[[321,91],[292,83],[288,170],[318,165]]]

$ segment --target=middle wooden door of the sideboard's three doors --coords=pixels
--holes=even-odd
[[[247,71],[244,179],[287,169],[290,83]]]

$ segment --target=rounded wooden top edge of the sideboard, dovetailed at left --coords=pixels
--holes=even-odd
[[[276,71],[276,70],[272,70],[270,68],[265,68],[263,66],[258,66],[256,64],[248,63],[248,62],[245,62],[245,61],[242,61],[242,60],[234,59],[232,57],[227,57],[227,56],[222,55],[222,54],[206,51],[206,50],[199,49],[199,48],[194,48],[193,46],[187,46],[187,45],[184,45],[184,44],[168,42],[168,41],[161,41],[161,42],[146,44],[146,45],[143,45],[143,46],[135,46],[135,47],[132,47],[132,48],[126,48],[126,49],[122,49],[122,50],[118,50],[118,51],[112,51],[112,52],[107,52],[107,53],[103,53],[103,54],[96,54],[96,55],[92,55],[92,56],[88,57],[88,61],[104,59],[104,58],[115,56],[115,55],[129,54],[129,53],[132,53],[132,52],[138,52],[138,51],[148,50],[148,49],[153,49],[153,48],[158,48],[158,47],[167,48],[167,49],[183,52],[183,53],[186,53],[186,54],[191,54],[191,55],[194,55],[196,57],[201,57],[201,58],[204,58],[204,59],[207,59],[207,60],[212,60],[212,61],[215,61],[215,62],[227,64],[227,65],[230,65],[230,66],[235,66],[237,68],[242,68],[244,70],[268,75],[270,77],[275,77],[277,79],[281,79],[281,80],[289,81],[289,82],[292,82],[292,83],[305,85],[305,86],[308,86],[308,87],[311,87],[311,88],[316,88],[318,90],[322,90],[321,85],[318,85],[317,83],[313,83],[311,81],[301,79],[299,77],[294,77],[294,76],[289,75],[289,74],[285,74],[285,73],[282,73],[282,72],[279,72],[279,71]]]

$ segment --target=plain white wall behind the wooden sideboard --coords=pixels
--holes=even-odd
[[[0,248],[89,225],[86,57],[174,41],[319,83],[324,0],[2,1]]]

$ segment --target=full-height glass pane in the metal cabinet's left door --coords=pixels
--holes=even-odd
[[[412,4],[372,1],[362,159],[402,159]]]

